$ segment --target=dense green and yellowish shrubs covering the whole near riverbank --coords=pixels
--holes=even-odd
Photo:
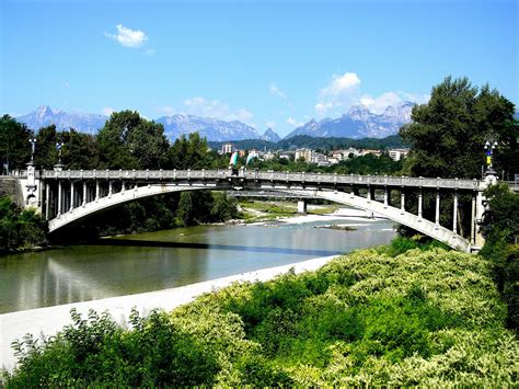
[[[480,255],[401,238],[172,312],[82,318],[16,343],[8,387],[517,385],[519,343]]]

